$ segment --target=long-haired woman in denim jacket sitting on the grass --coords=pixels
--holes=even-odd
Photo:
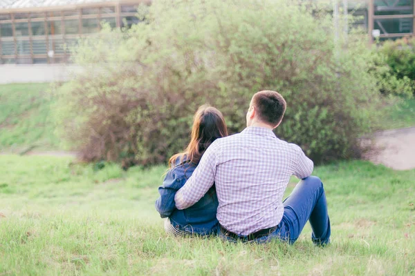
[[[156,209],[165,220],[165,230],[173,235],[214,235],[219,222],[216,219],[218,199],[214,186],[196,204],[177,210],[174,203],[176,191],[185,185],[199,164],[205,150],[218,138],[228,136],[222,113],[210,106],[201,106],[193,120],[192,137],[184,152],[169,160],[169,171],[158,188],[160,197]]]

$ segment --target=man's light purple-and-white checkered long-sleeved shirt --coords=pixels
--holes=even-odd
[[[313,161],[299,146],[278,139],[268,128],[248,127],[216,139],[174,200],[176,208],[188,208],[215,184],[221,226],[250,235],[279,224],[291,175],[302,179],[311,172]]]

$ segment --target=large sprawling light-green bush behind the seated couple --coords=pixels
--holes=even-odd
[[[380,99],[375,55],[362,36],[335,45],[331,17],[293,2],[160,0],[140,7],[145,23],[81,41],[84,73],[57,93],[62,137],[88,160],[164,162],[198,106],[239,132],[252,95],[271,89],[288,103],[279,137],[317,162],[358,156]]]

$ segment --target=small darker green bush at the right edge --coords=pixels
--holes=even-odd
[[[385,41],[376,61],[380,92],[412,97],[415,92],[415,38]]]

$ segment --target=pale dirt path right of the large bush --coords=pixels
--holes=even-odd
[[[377,149],[366,156],[374,164],[394,170],[415,168],[415,127],[378,132],[375,146]]]

